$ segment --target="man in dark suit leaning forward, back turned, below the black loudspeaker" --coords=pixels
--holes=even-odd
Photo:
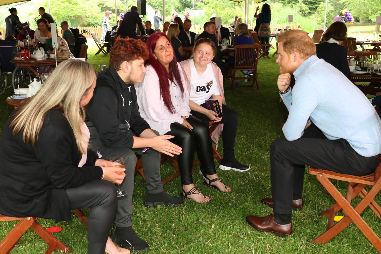
[[[141,35],[146,35],[141,18],[139,17],[138,7],[132,6],[131,11],[124,15],[122,24],[120,24],[118,28],[117,35],[122,38],[128,36],[130,38],[137,39],[138,37],[136,37],[136,24],[138,24]]]

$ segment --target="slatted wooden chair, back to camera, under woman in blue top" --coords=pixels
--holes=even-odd
[[[257,90],[259,91],[259,84],[257,79],[258,74],[258,59],[259,59],[259,50],[261,49],[261,45],[237,45],[234,47],[235,55],[234,55],[234,69],[233,69],[233,77],[232,78],[232,88],[235,93],[235,88],[238,87],[252,87],[254,88],[254,83],[257,85]],[[253,74],[247,77],[236,77],[237,71],[242,70],[252,70]],[[234,85],[234,81],[237,79],[253,79],[252,85]]]

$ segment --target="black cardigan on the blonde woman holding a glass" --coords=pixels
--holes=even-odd
[[[22,141],[21,133],[13,135],[12,120],[0,140],[0,214],[70,221],[65,190],[102,177],[102,169],[94,166],[96,153],[89,150],[86,164],[78,167],[82,155],[69,122],[57,109],[46,113],[33,147]]]

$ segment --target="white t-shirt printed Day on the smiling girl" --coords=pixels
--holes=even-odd
[[[200,76],[194,66],[193,59],[189,59],[188,61],[189,64],[191,64],[191,80],[189,80],[191,83],[190,99],[201,105],[205,103],[206,100],[210,99],[213,94],[221,94],[216,77],[213,73],[212,64],[209,63],[205,72]]]

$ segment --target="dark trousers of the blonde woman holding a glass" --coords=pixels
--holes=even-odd
[[[70,209],[90,207],[87,222],[88,254],[104,254],[117,206],[117,190],[112,182],[94,180],[66,190]]]

